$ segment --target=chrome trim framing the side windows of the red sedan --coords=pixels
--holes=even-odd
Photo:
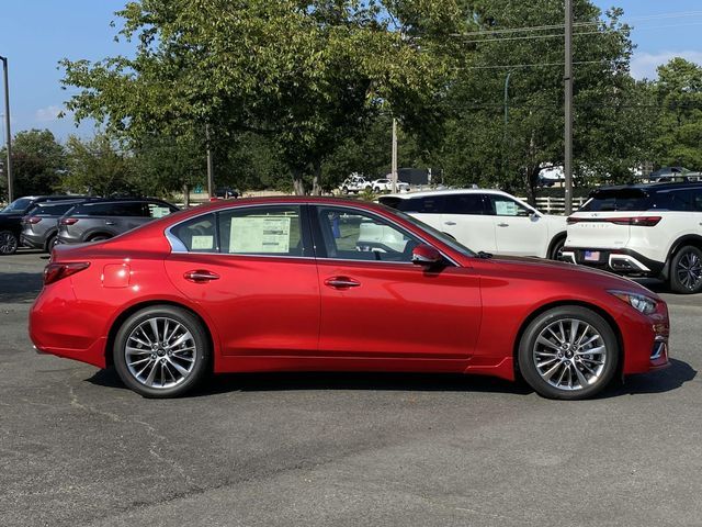
[[[290,259],[294,259],[294,260],[322,260],[322,261],[349,261],[349,262],[362,262],[362,264],[390,264],[390,265],[409,265],[409,266],[416,266],[416,264],[412,264],[411,261],[382,261],[382,260],[350,260],[347,258],[317,258],[316,256],[287,256],[287,255],[258,255],[258,254],[240,254],[240,253],[219,253],[216,250],[212,250],[212,251],[190,251],[188,250],[188,247],[185,247],[185,244],[183,244],[180,238],[178,238],[178,236],[176,236],[172,233],[172,229],[178,227],[179,225],[182,225],[183,223],[190,222],[191,220],[195,220],[199,218],[201,216],[206,216],[207,214],[217,214],[220,212],[226,212],[226,211],[231,211],[231,210],[240,210],[240,209],[253,209],[253,208],[261,208],[261,206],[304,206],[304,205],[312,205],[312,206],[333,206],[333,208],[338,208],[338,209],[349,209],[351,211],[359,211],[359,209],[353,208],[351,205],[344,205],[344,204],[322,204],[322,203],[314,203],[314,202],[282,202],[282,203],[274,203],[274,204],[247,204],[247,205],[235,205],[235,206],[229,206],[226,209],[217,209],[216,211],[207,211],[207,212],[203,212],[202,214],[196,214],[194,216],[190,216],[185,220],[181,220],[178,223],[172,224],[170,227],[168,227],[166,231],[163,231],[163,235],[166,236],[166,239],[168,240],[168,243],[171,246],[171,253],[172,254],[179,254],[179,255],[219,255],[219,256],[234,256],[234,257],[245,257],[245,258],[290,258]],[[361,209],[362,212],[369,213],[375,217],[378,217],[383,221],[388,221],[386,217],[377,214],[374,211],[367,211],[365,209]],[[397,224],[395,224],[397,225]],[[401,225],[398,225],[398,227],[404,231],[404,232],[408,232],[405,227],[403,227]],[[429,242],[427,242],[426,238],[423,238],[422,236],[419,236],[415,233],[408,232],[409,235],[419,238],[419,240],[422,244],[426,245],[431,245],[432,247],[435,248],[435,246],[433,244],[430,244]],[[441,254],[441,256],[443,256],[446,260],[449,260],[454,267],[463,267],[461,266],[456,260],[454,260],[453,258],[451,258],[450,256],[448,256],[443,250],[440,250],[437,248],[437,250],[439,250],[439,253]]]

